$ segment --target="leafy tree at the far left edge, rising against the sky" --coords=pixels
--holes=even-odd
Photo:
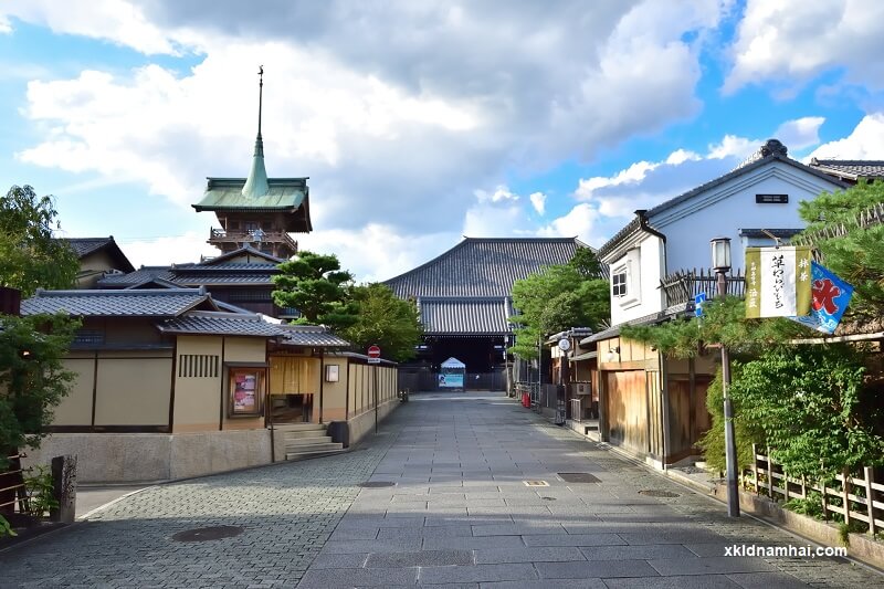
[[[0,285],[18,288],[23,297],[36,288],[67,288],[80,261],[62,240],[52,197],[38,197],[30,186],[13,186],[0,198]]]

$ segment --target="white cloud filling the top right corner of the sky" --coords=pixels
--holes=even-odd
[[[724,91],[775,82],[789,93],[821,72],[842,67],[848,82],[881,90],[884,3],[865,0],[748,0],[732,48]]]

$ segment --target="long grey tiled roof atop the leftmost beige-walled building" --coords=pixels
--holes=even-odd
[[[22,315],[66,313],[86,317],[176,317],[211,296],[196,288],[144,291],[38,291],[21,303]]]

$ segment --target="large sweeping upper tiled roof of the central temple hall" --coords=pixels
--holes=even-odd
[[[409,296],[509,296],[513,283],[545,266],[565,264],[576,238],[465,238],[442,255],[385,282],[400,298]]]

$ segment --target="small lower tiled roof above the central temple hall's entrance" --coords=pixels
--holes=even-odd
[[[425,334],[508,334],[514,315],[506,297],[421,297],[418,299]]]

